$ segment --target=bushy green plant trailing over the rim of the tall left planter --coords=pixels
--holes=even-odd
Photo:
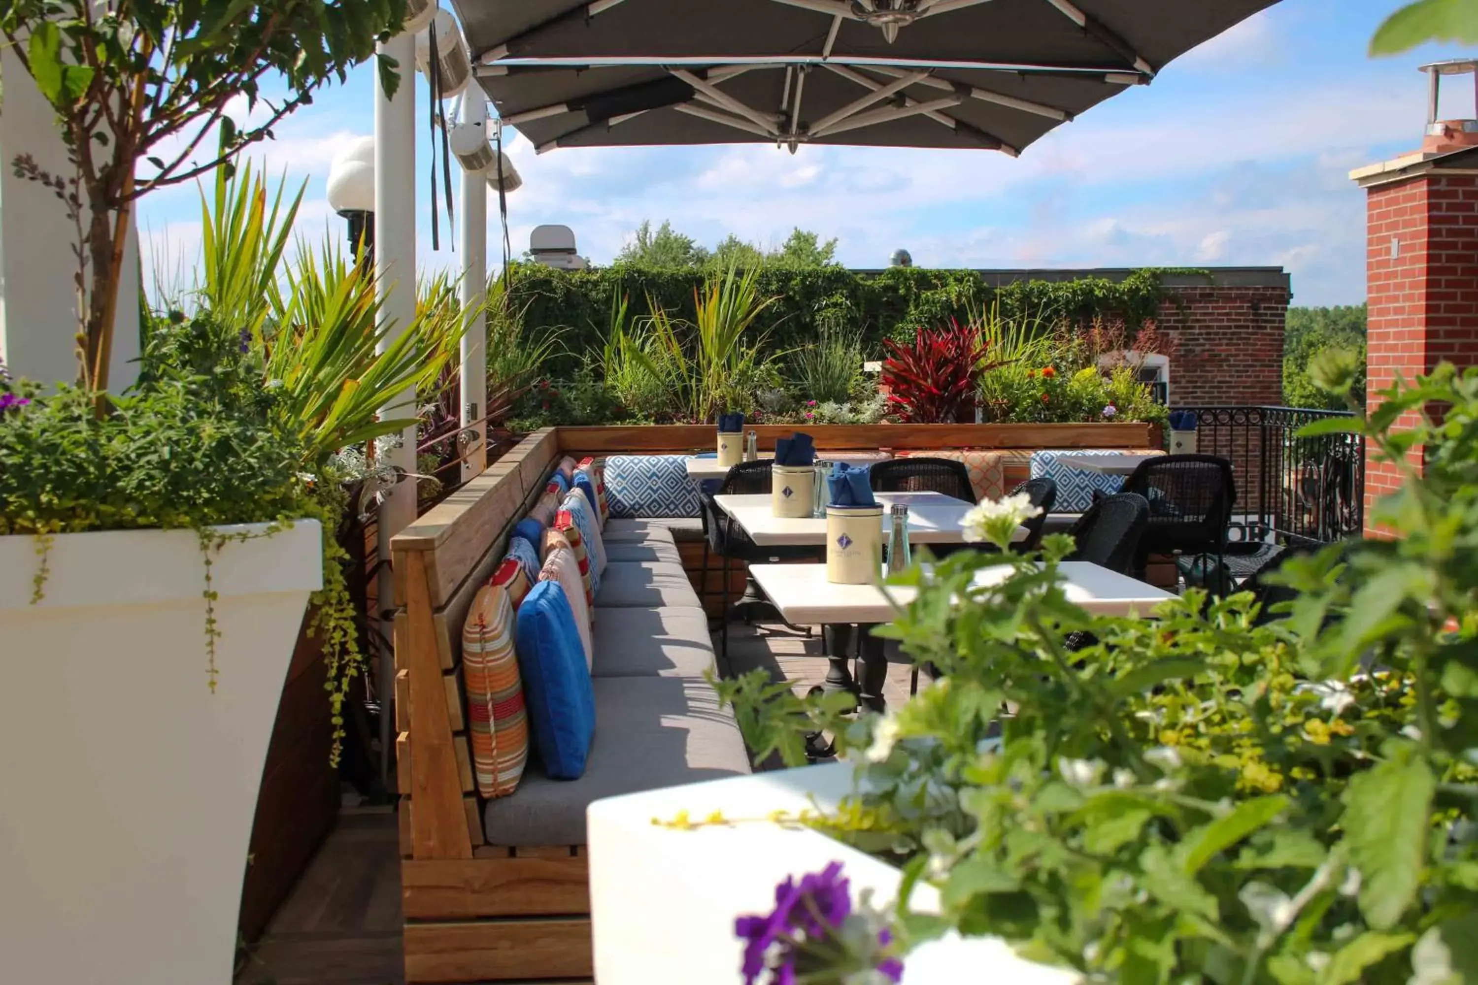
[[[204,651],[216,688],[211,564],[232,539],[272,536],[296,520],[318,520],[324,588],[310,626],[322,634],[337,763],[341,704],[362,669],[343,549],[334,539],[344,495],[334,476],[309,473],[299,431],[278,413],[278,388],[234,332],[207,319],[161,326],[143,357],[139,384],[109,394],[41,388],[0,374],[0,536],[37,543],[33,601],[49,574],[56,535],[93,530],[194,530],[202,557]],[[228,524],[268,524],[256,535],[222,535]]]

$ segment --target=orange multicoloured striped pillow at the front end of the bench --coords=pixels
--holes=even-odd
[[[513,651],[513,616],[501,585],[477,589],[463,623],[463,679],[471,769],[485,797],[505,797],[529,759],[529,719]]]

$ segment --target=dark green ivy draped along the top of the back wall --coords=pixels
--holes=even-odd
[[[572,353],[600,346],[610,319],[612,295],[630,298],[631,316],[650,312],[649,300],[678,318],[693,318],[693,291],[704,282],[701,269],[652,269],[615,264],[594,270],[554,270],[519,263],[510,270],[510,300],[523,310],[531,329],[563,328]],[[869,351],[881,353],[881,340],[965,320],[1001,303],[1002,315],[1043,316],[1088,322],[1119,316],[1132,326],[1153,316],[1166,297],[1156,270],[1138,270],[1123,281],[1082,278],[1063,282],[1017,282],[993,289],[974,270],[921,270],[890,267],[860,275],[845,267],[783,267],[760,270],[763,297],[777,297],[760,320],[770,344],[792,349],[816,338],[819,325],[860,329]]]

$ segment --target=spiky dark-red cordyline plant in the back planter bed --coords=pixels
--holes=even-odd
[[[912,343],[885,340],[882,382],[888,406],[905,424],[953,424],[975,408],[975,384],[990,369],[980,329],[950,322],[921,328]]]

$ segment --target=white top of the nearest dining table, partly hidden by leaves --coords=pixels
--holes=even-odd
[[[1067,579],[1067,598],[1097,616],[1145,616],[1157,604],[1175,598],[1089,561],[1063,561],[1058,570]],[[1007,564],[989,567],[975,576],[975,583],[999,583],[1009,573]],[[785,620],[797,626],[893,620],[893,605],[882,589],[876,585],[832,585],[826,580],[825,564],[751,564],[749,577],[758,582]],[[900,605],[912,603],[916,594],[906,586],[887,591]]]

